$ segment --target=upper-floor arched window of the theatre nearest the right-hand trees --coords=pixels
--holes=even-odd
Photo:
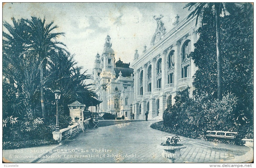
[[[191,52],[191,42],[186,40],[182,45],[182,74],[181,78],[190,77],[190,58],[189,53]]]

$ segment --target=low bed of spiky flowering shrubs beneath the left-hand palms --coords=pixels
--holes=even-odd
[[[52,144],[56,118],[34,117],[28,112],[24,117],[9,116],[3,119],[3,149],[17,149]],[[30,116],[30,117],[28,117]],[[71,117],[59,115],[60,129],[67,128]]]

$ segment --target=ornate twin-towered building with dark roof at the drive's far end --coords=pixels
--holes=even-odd
[[[93,78],[95,92],[102,103],[97,108],[100,116],[111,113],[117,117],[130,118],[130,104],[133,102],[133,69],[130,63],[123,63],[120,58],[115,62],[110,36],[105,39],[102,55],[96,55]]]

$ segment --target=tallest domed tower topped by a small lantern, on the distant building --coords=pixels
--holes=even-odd
[[[114,72],[115,57],[114,50],[111,48],[112,43],[110,43],[110,36],[108,35],[105,39],[104,49],[102,52],[103,59],[103,69],[102,71],[112,71]]]

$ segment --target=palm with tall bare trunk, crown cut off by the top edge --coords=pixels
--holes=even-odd
[[[225,3],[215,2],[215,3],[195,3],[191,2],[188,3],[184,8],[188,8],[188,10],[194,9],[189,15],[196,16],[196,25],[198,21],[198,17],[204,13],[204,9],[206,7],[214,8],[214,16],[215,16],[215,27],[216,27],[216,56],[217,56],[217,91],[218,91],[218,98],[222,99],[222,57],[220,55],[220,14],[222,10],[225,13],[224,8]]]

